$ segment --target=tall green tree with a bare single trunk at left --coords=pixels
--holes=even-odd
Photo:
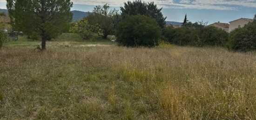
[[[17,31],[39,33],[42,50],[47,40],[69,29],[72,6],[70,0],[7,0],[11,25]]]

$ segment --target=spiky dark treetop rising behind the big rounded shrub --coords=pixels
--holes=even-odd
[[[158,25],[163,29],[166,17],[163,17],[161,11],[162,8],[157,8],[154,2],[145,3],[141,2],[141,0],[128,1],[124,3],[123,7],[121,6],[122,18],[125,18],[127,15],[145,15],[149,18],[156,19]]]

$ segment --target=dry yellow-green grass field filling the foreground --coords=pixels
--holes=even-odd
[[[255,52],[47,45],[0,50],[0,119],[256,120]]]

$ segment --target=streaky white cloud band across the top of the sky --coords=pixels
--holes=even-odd
[[[122,6],[128,0],[72,0],[74,4]],[[131,0],[133,1],[133,0]],[[145,2],[154,1],[159,7],[163,8],[195,8],[195,9],[214,9],[214,10],[237,10],[241,7],[255,7],[256,0],[144,0]]]

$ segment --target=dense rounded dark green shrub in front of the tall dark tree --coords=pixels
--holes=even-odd
[[[155,19],[144,15],[127,16],[117,26],[117,42],[124,46],[147,46],[158,45],[161,37],[161,28]]]

